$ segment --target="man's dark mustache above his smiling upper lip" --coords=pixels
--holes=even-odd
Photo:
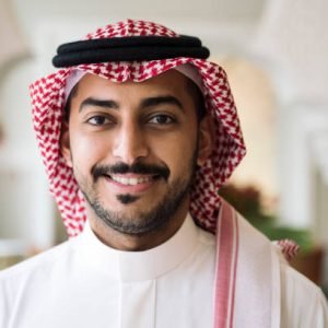
[[[157,177],[162,177],[165,180],[168,179],[171,174],[169,168],[163,165],[156,164],[144,164],[144,163],[133,163],[132,165],[119,162],[114,165],[94,165],[91,169],[91,174],[96,181],[101,176],[110,175],[110,174],[147,174],[147,175],[156,175]]]

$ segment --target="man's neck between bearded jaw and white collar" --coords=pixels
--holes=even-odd
[[[119,250],[140,251],[154,248],[168,241],[183,225],[188,208],[189,200],[187,199],[161,229],[141,235],[130,235],[115,231],[103,220],[95,216],[92,209],[87,209],[87,219],[94,234],[103,244]]]

